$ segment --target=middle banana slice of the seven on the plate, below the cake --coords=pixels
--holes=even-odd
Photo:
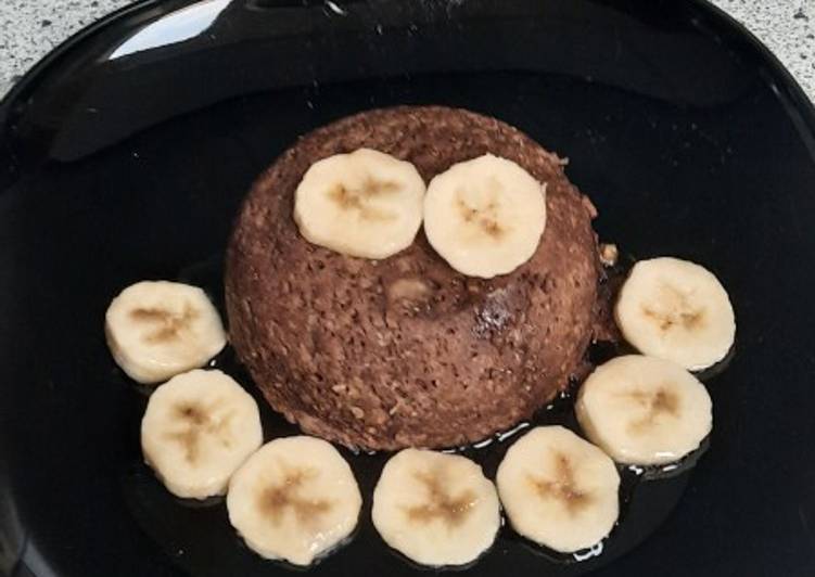
[[[498,496],[477,464],[418,449],[387,461],[373,491],[371,515],[387,544],[432,566],[475,560],[500,527]]]

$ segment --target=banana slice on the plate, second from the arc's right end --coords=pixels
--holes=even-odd
[[[638,465],[682,459],[713,426],[704,385],[676,363],[640,355],[595,369],[575,412],[593,443],[615,461]]]

